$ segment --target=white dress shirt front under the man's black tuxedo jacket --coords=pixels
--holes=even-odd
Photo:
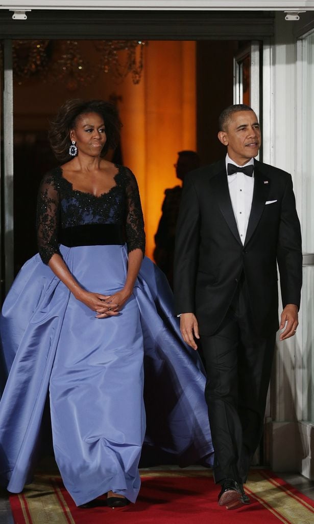
[[[232,163],[237,167],[238,164],[231,160],[229,155],[226,156],[226,170],[228,163]],[[254,165],[254,159],[251,158],[245,166]],[[244,167],[244,166],[241,166]],[[234,210],[235,219],[237,222],[238,232],[242,244],[244,244],[249,223],[249,216],[251,212],[253,189],[254,189],[254,172],[252,177],[248,177],[245,173],[234,173],[227,176],[228,187],[232,209]]]

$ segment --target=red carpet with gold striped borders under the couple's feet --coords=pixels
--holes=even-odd
[[[252,504],[237,510],[217,505],[211,472],[141,471],[136,504],[78,509],[60,477],[41,475],[20,495],[11,495],[15,524],[313,524],[314,501],[282,479],[253,470],[245,486]]]

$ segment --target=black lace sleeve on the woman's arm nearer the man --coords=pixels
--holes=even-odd
[[[145,232],[144,219],[139,198],[138,185],[136,178],[130,169],[125,170],[126,174],[126,221],[125,233],[127,251],[130,253],[133,249],[142,249],[145,254]]]

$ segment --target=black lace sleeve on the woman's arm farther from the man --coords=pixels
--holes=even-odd
[[[43,177],[37,200],[37,243],[44,264],[48,264],[54,253],[60,255],[58,226],[60,196],[52,172]]]

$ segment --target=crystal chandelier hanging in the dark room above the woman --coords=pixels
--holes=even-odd
[[[40,74],[45,82],[64,82],[75,91],[97,79],[100,73],[113,74],[121,82],[131,74],[134,84],[141,80],[143,40],[14,40],[13,74],[19,85]],[[84,47],[89,47],[86,53]],[[86,56],[87,54],[87,56]],[[92,63],[88,55],[93,57]]]

